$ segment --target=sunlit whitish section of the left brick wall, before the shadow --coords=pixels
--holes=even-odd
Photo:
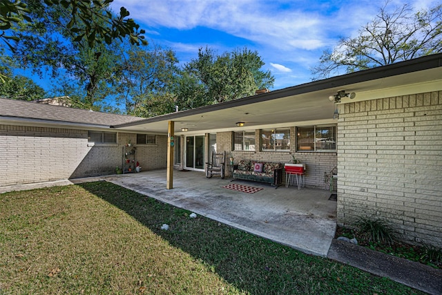
[[[0,185],[70,178],[87,144],[87,131],[0,125]]]

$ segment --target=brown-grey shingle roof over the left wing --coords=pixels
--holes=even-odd
[[[129,115],[116,115],[95,111],[68,108],[66,106],[52,106],[49,104],[37,104],[17,99],[0,98],[0,119],[15,120],[41,120],[51,121],[54,124],[91,124],[98,126],[113,126],[127,124],[140,120],[142,117]]]

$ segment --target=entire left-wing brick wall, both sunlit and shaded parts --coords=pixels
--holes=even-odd
[[[0,186],[113,174],[128,137],[136,142],[119,133],[117,144],[88,144],[86,130],[0,125]],[[144,170],[166,167],[166,144],[158,136],[155,145],[137,146]]]

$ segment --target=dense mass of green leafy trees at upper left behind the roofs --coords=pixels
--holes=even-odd
[[[173,50],[138,46],[147,44],[140,35],[144,31],[126,19],[124,8],[115,17],[108,3],[2,1],[0,39],[10,50],[8,58],[0,58],[0,75],[13,77],[12,68],[26,68],[50,80],[51,95],[68,95],[73,107],[144,117],[171,113],[175,106],[185,110],[238,99],[273,86],[269,70],[260,70],[264,62],[258,53],[247,48],[222,55],[200,48],[198,58],[179,67]],[[26,88],[29,82],[15,77],[14,83]],[[28,99],[19,93],[14,97]]]

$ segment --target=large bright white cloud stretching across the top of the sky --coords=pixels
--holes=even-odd
[[[421,0],[431,6],[434,0]],[[392,0],[401,6],[405,0]],[[305,0],[114,0],[137,22],[154,28],[190,30],[198,26],[220,30],[280,50],[315,50],[332,46],[340,37],[358,35],[383,1]],[[166,37],[166,36],[164,36]]]

